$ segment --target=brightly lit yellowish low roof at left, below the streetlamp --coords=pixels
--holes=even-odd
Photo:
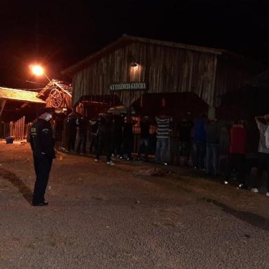
[[[0,87],[0,98],[32,103],[45,103],[37,97],[38,93],[18,89]]]

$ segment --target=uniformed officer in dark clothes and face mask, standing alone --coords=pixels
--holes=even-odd
[[[43,110],[31,128],[30,143],[34,155],[34,184],[33,206],[45,206],[45,191],[49,181],[52,160],[55,158],[54,135],[51,128],[51,112]]]

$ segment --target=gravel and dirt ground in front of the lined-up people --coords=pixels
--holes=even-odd
[[[32,207],[30,146],[0,141],[0,268],[269,268],[268,197],[116,163],[59,152]]]

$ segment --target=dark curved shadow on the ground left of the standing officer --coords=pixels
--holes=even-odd
[[[27,187],[25,183],[23,183],[23,181],[20,178],[18,178],[18,176],[16,176],[16,174],[6,169],[0,168],[0,176],[5,180],[8,180],[10,183],[12,183],[12,185],[14,185],[14,187],[16,187],[19,190],[19,192],[23,195],[25,200],[27,200],[27,202],[32,204],[33,194],[31,189]]]

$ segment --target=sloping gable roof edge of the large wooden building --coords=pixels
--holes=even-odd
[[[102,49],[96,51],[90,56],[80,60],[79,62],[75,63],[75,65],[72,65],[71,67],[68,67],[67,69],[63,70],[61,73],[62,75],[72,75],[73,73],[89,65],[91,62],[93,62],[93,60],[96,60],[97,58],[102,57],[104,54],[108,54],[115,49],[119,49],[121,47],[124,47],[125,45],[135,43],[135,42],[161,45],[165,47],[174,47],[178,49],[187,49],[187,50],[199,51],[199,52],[207,53],[207,54],[215,54],[215,55],[229,54],[230,56],[235,56],[237,58],[244,58],[244,56],[241,56],[239,54],[234,54],[224,49],[199,47],[199,46],[194,46],[194,45],[186,45],[182,43],[174,43],[174,42],[163,41],[163,40],[155,40],[155,39],[143,38],[143,37],[137,37],[137,36],[128,36],[124,34],[123,36],[115,40],[115,42],[111,43],[110,45],[107,45],[106,47],[103,47]],[[246,58],[244,59],[246,60]]]

